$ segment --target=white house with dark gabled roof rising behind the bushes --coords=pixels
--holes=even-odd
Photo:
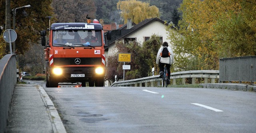
[[[105,55],[106,61],[108,60],[108,56],[112,54],[116,54],[117,50],[115,48],[116,40],[121,40],[124,43],[128,41],[136,40],[140,44],[144,41],[149,40],[150,36],[156,34],[160,36],[162,42],[170,42],[168,40],[168,33],[166,31],[167,24],[159,18],[150,18],[146,19],[139,24],[134,24],[130,19],[128,19],[127,24],[118,28],[117,30],[111,30],[111,40],[106,40],[107,46],[105,46]],[[106,84],[108,85],[108,83]]]

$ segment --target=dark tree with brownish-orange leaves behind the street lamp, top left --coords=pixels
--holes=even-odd
[[[11,9],[22,7],[28,4],[31,5],[31,8],[20,8],[16,10],[16,54],[24,54],[24,52],[29,49],[30,44],[37,43],[37,41],[40,40],[39,31],[48,27],[48,19],[45,17],[53,14],[52,8],[49,5],[51,2],[52,0],[11,1]],[[1,5],[4,6],[5,4],[6,3],[4,0],[2,0]],[[0,12],[0,16],[1,20],[3,20],[5,12]],[[0,25],[4,25],[4,23]],[[0,54],[5,55],[7,53]]]

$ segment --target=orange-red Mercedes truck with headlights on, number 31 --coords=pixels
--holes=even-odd
[[[46,87],[58,87],[61,82],[104,86],[105,38],[102,25],[94,22],[97,23],[54,23],[49,30],[40,32],[45,46]],[[110,34],[106,39],[111,39]]]

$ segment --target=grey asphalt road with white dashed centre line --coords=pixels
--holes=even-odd
[[[161,87],[44,89],[68,133],[256,131],[255,92]]]

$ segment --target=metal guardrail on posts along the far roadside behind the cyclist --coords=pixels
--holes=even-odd
[[[179,71],[171,73],[170,79],[172,79],[173,85],[176,85],[176,79],[182,78],[182,84],[186,84],[186,78],[192,78],[192,84],[196,83],[196,78],[204,78],[204,83],[208,83],[208,78],[211,79],[211,83],[215,83],[216,79],[219,79],[218,70],[193,70],[193,71]],[[140,86],[142,87],[142,83],[145,83],[145,87],[148,87],[148,83],[150,83],[150,87],[154,87],[155,84],[160,86],[160,82],[162,81],[159,78],[160,75],[153,75],[150,77],[142,77],[139,79],[131,79],[125,81],[117,81],[112,83],[111,86]]]

